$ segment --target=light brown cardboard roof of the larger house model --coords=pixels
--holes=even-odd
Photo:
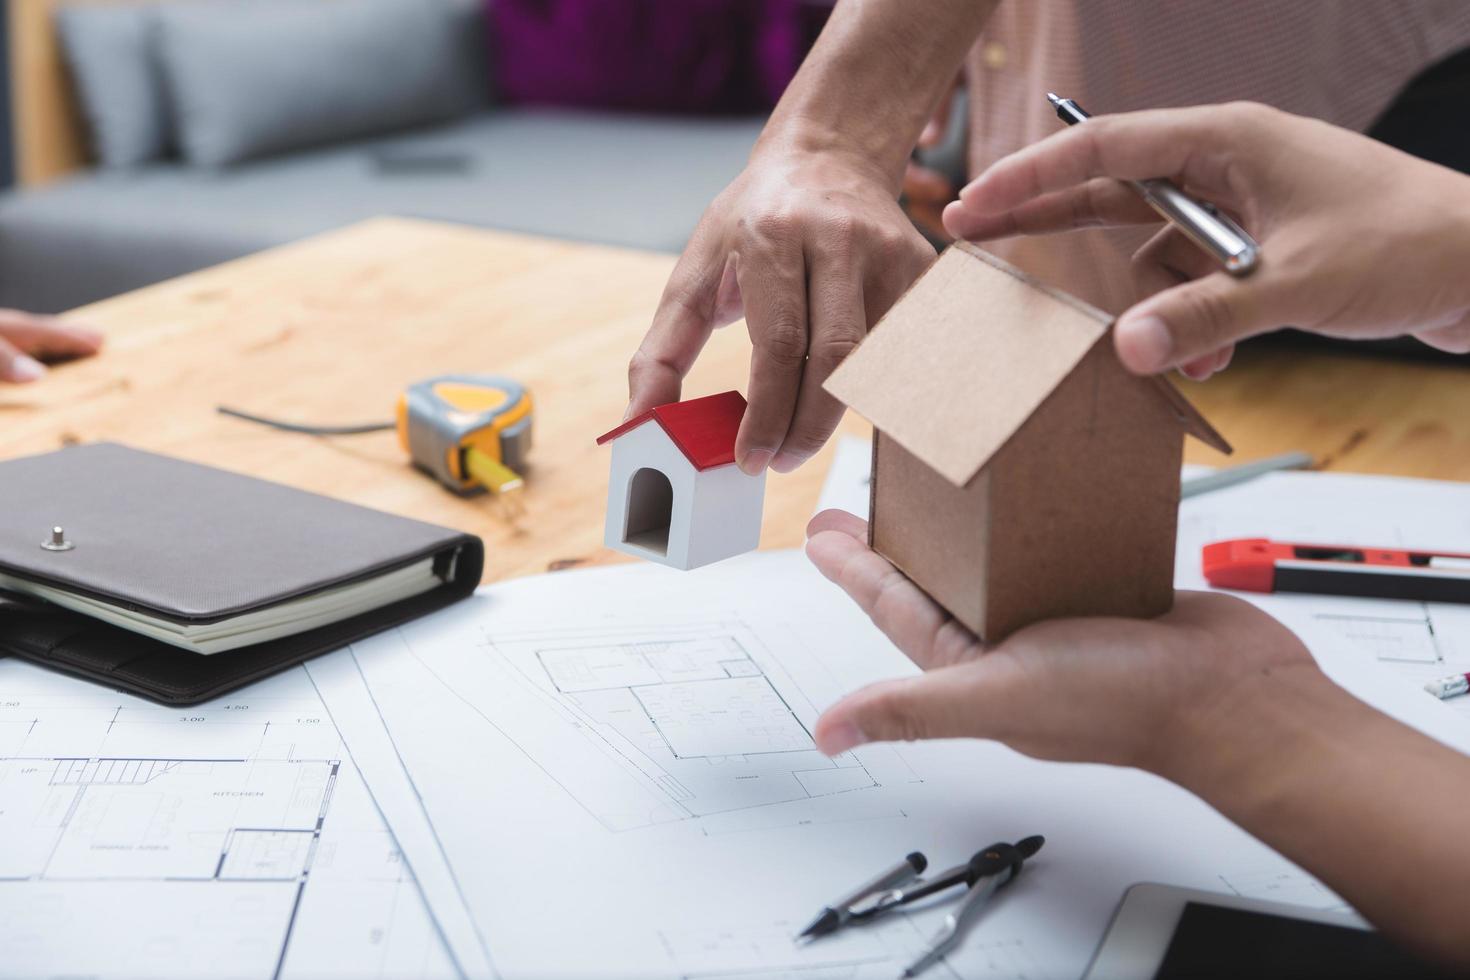
[[[929,266],[828,378],[856,408],[963,486],[1102,339],[1113,317],[969,242]],[[1229,444],[1163,378],[1186,432]]]

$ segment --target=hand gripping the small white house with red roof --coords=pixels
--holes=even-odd
[[[710,332],[744,314],[754,350],[739,467],[785,473],[822,448],[842,417],[822,382],[933,259],[891,184],[856,157],[757,150],[663,291],[628,366],[628,414],[678,401]]]

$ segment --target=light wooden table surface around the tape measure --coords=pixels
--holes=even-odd
[[[478,533],[487,579],[613,560],[601,548],[607,455],[594,439],[622,417],[625,366],[672,266],[663,254],[365,222],[76,310],[107,332],[106,351],[0,386],[0,457],[112,439],[265,476]],[[716,332],[685,392],[744,389],[747,357],[742,328]],[[504,373],[532,389],[525,517],[441,489],[392,433],[301,436],[215,413],[387,419],[406,385],[448,372]],[[1470,480],[1464,369],[1251,351],[1185,391],[1236,460],[1307,450],[1335,470]],[[853,416],[842,430],[867,432]],[[831,453],[772,475],[761,547],[801,542]],[[1225,457],[1191,444],[1186,458]]]

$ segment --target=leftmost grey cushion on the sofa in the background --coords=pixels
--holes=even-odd
[[[169,151],[169,110],[143,6],[68,6],[56,12],[97,162],[126,167]]]

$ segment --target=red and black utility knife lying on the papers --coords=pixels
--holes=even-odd
[[[1236,538],[1204,547],[1217,589],[1470,602],[1470,554]]]

